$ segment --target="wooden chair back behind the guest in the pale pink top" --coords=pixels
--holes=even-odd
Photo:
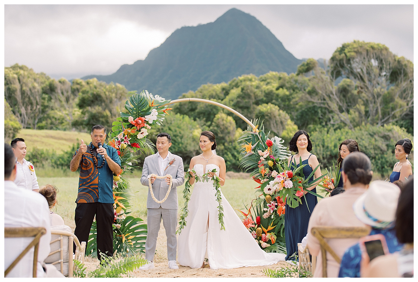
[[[321,245],[322,254],[322,277],[327,277],[326,274],[326,252],[335,259],[335,261],[341,264],[341,258],[334,252],[333,249],[326,243],[324,239],[346,239],[346,238],[361,238],[369,235],[370,228],[367,227],[330,227],[330,226],[317,226],[312,227],[312,235],[314,235]]]

